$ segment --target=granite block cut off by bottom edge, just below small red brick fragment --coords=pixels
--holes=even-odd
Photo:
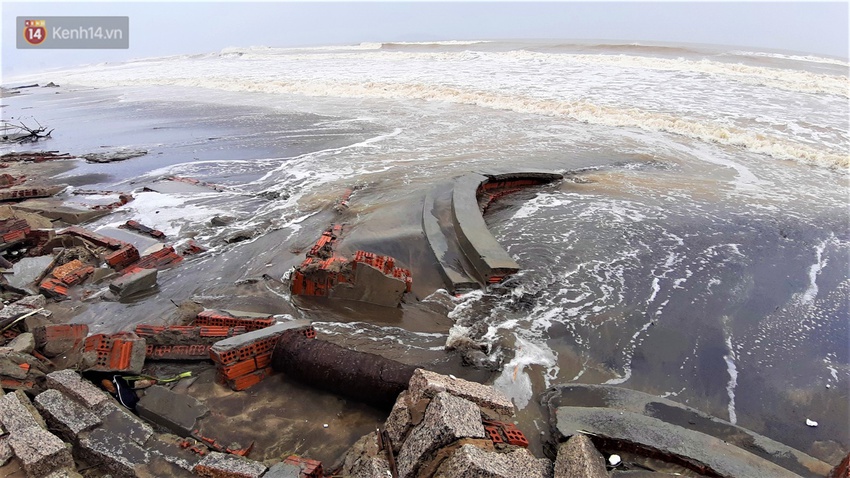
[[[460,447],[443,462],[434,478],[548,478],[551,463],[537,459],[525,448],[510,453],[494,453],[473,445]],[[585,475],[569,475],[584,477]],[[607,475],[606,475],[607,476]]]

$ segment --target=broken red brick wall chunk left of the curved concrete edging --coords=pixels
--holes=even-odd
[[[397,307],[413,287],[410,271],[396,267],[392,257],[371,252],[357,251],[352,258],[336,255],[342,230],[342,225],[332,226],[310,248],[291,276],[292,294]]]

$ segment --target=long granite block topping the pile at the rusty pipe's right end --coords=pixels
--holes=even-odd
[[[407,390],[410,394],[410,403],[416,403],[423,398],[431,398],[439,392],[446,391],[500,415],[509,417],[514,414],[513,402],[493,387],[461,378],[451,378],[421,368],[413,373]]]

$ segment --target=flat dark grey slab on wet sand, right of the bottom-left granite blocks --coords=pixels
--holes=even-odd
[[[145,395],[136,404],[136,411],[145,420],[183,437],[191,436],[197,420],[208,412],[195,398],[160,385],[145,390]]]

